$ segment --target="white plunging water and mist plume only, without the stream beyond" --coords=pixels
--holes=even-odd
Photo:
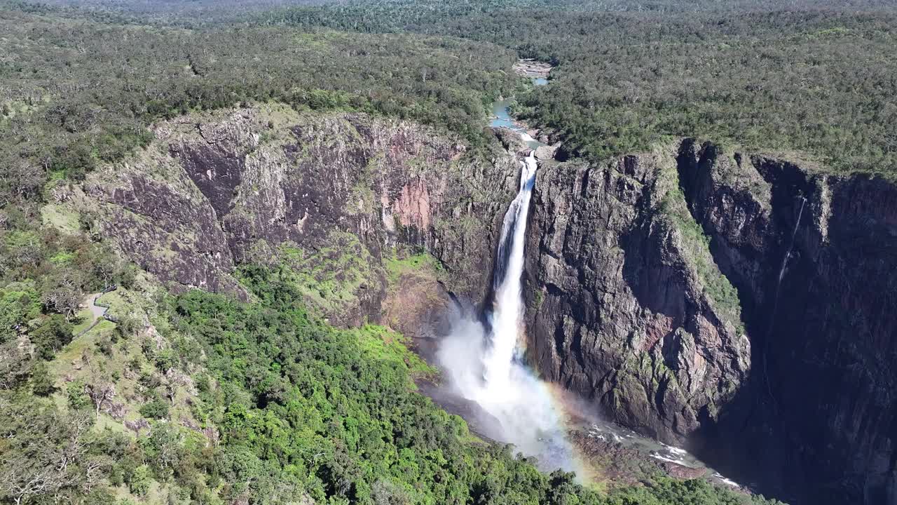
[[[440,343],[437,357],[457,394],[490,414],[484,434],[514,444],[536,456],[545,469],[575,470],[565,437],[562,412],[550,391],[519,359],[524,303],[521,293],[529,200],[536,183],[536,158],[522,163],[517,198],[511,202],[501,229],[496,255],[494,301],[486,315],[458,315],[452,332]]]

